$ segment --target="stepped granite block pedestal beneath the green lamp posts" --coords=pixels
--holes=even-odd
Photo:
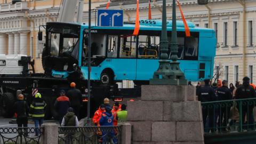
[[[129,101],[132,143],[204,143],[201,102],[194,86],[143,85]]]

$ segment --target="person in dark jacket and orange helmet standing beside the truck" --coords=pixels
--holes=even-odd
[[[67,97],[70,101],[70,107],[73,108],[75,115],[79,119],[79,111],[82,106],[82,93],[80,90],[76,89],[76,83],[70,83],[71,89],[67,92]]]

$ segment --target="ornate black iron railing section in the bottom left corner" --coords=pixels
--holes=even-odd
[[[36,135],[38,131],[38,135]],[[39,144],[43,127],[0,127],[1,144]]]

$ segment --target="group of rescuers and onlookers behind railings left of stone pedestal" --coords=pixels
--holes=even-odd
[[[24,100],[24,95],[17,96],[18,101],[14,103],[15,116],[17,117],[18,127],[28,127],[28,117],[33,119],[35,127],[35,135],[40,133],[39,127],[44,122],[46,102],[42,98],[41,93],[36,93],[34,99],[29,106]],[[59,124],[61,126],[79,126],[78,119],[79,110],[82,106],[82,93],[76,89],[74,82],[70,83],[70,90],[60,90],[60,96],[54,102],[54,108],[59,115]],[[95,111],[92,122],[96,126],[116,126],[120,122],[125,122],[127,118],[126,105],[115,102],[111,106],[109,99],[105,98],[99,109]],[[22,129],[19,129],[22,131]],[[26,133],[26,129],[25,129]],[[110,137],[114,137],[115,131],[110,133]],[[106,135],[99,130],[98,135]],[[104,140],[104,138],[102,139]]]

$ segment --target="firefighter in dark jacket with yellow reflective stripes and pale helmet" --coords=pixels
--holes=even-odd
[[[42,99],[40,93],[35,94],[35,99],[29,107],[29,116],[33,118],[35,127],[41,127],[44,122],[46,102]],[[39,129],[36,129],[36,136],[39,135]]]

